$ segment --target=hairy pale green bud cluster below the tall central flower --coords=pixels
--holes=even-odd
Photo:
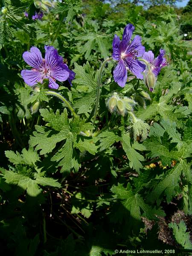
[[[125,116],[128,111],[133,111],[133,106],[136,102],[126,96],[121,97],[117,93],[107,99],[106,106],[111,113],[117,113],[119,115]]]

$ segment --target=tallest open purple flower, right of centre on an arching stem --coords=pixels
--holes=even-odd
[[[113,76],[120,87],[125,86],[127,70],[130,70],[137,78],[143,79],[142,72],[145,70],[145,65],[138,61],[137,57],[143,56],[145,47],[142,46],[139,35],[136,35],[130,41],[134,29],[132,24],[128,24],[123,31],[122,41],[117,35],[113,39],[112,57],[114,60],[119,61],[113,71]]]

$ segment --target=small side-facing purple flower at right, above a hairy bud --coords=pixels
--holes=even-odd
[[[155,59],[154,54],[151,51],[145,52],[143,54],[143,59],[151,64],[151,71],[154,73],[156,77],[160,73],[162,67],[165,67],[167,65],[166,58],[164,58],[164,55],[165,50],[163,49],[160,49],[160,55],[158,55],[157,58]]]

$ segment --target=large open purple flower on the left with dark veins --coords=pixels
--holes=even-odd
[[[37,82],[42,83],[49,79],[49,88],[58,89],[60,82],[74,79],[75,73],[63,63],[63,58],[58,55],[57,50],[52,46],[45,46],[45,58],[37,47],[31,47],[30,52],[23,53],[24,61],[32,67],[32,70],[22,70],[21,76],[26,84],[34,86]]]

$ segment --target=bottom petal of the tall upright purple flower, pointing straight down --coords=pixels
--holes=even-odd
[[[127,70],[122,60],[119,61],[116,68],[113,70],[113,77],[120,87],[124,87],[127,81]]]

